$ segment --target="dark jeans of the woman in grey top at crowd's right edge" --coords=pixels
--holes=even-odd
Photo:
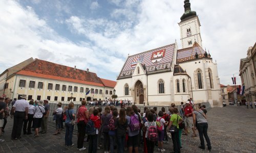
[[[199,138],[200,138],[201,146],[205,147],[205,145],[204,145],[204,138],[205,138],[205,140],[207,142],[208,149],[211,149],[210,139],[209,139],[209,137],[207,135],[208,123],[198,123],[197,126],[198,126],[198,133],[199,133]]]

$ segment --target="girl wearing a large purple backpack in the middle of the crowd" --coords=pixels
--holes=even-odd
[[[139,139],[139,130],[133,129],[136,123],[139,123],[139,116],[134,113],[134,110],[131,106],[126,109],[126,119],[129,125],[128,127],[128,141],[127,147],[129,149],[129,153],[133,152],[138,153],[138,139]],[[136,122],[137,120],[137,122]]]

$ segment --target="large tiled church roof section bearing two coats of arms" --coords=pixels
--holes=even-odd
[[[138,62],[145,64],[147,72],[161,71],[172,66],[175,44],[169,44],[129,56],[119,74],[118,79],[132,76]]]

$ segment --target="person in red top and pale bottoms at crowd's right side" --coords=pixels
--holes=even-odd
[[[193,124],[193,108],[190,106],[189,101],[186,102],[186,106],[184,108],[184,122],[185,122],[185,133],[183,135],[187,135],[187,128],[190,127],[193,130],[193,135],[191,137],[196,137],[196,130]]]

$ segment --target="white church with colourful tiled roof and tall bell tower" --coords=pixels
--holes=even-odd
[[[179,22],[182,48],[175,42],[127,57],[115,86],[118,99],[166,106],[191,97],[195,103],[222,107],[217,63],[202,48],[201,24],[189,0],[184,8]]]

